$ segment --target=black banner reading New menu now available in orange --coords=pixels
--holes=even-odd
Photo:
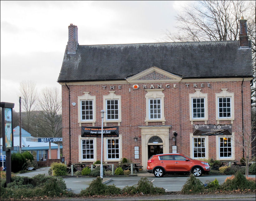
[[[101,127],[82,126],[82,137],[101,137]],[[103,137],[119,137],[119,127],[103,127]]]

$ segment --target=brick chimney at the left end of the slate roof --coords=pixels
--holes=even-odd
[[[76,25],[69,25],[68,54],[75,54],[78,46],[78,28]]]

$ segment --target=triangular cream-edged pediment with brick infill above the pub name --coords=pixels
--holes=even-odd
[[[142,71],[136,75],[133,75],[127,78],[129,83],[138,83],[138,82],[177,82],[182,78],[178,75],[174,75],[167,71],[164,71],[158,67],[151,67]]]

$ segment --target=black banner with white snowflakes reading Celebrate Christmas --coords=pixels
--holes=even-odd
[[[194,124],[193,135],[232,135],[232,125]]]

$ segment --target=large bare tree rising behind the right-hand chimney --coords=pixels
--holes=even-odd
[[[178,34],[166,31],[165,41],[227,41],[239,40],[239,20],[247,20],[248,36],[252,40],[253,82],[252,107],[255,107],[255,0],[195,1],[183,7],[176,16]]]

